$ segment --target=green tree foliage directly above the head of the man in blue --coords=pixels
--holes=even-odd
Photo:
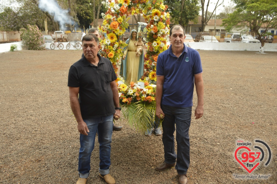
[[[198,0],[165,0],[164,4],[168,6],[167,11],[174,23],[183,27],[187,27],[190,20],[196,21],[199,16]]]

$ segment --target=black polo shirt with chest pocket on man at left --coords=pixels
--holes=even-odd
[[[85,56],[74,63],[68,73],[68,86],[80,87],[79,103],[82,118],[108,116],[115,113],[111,81],[117,76],[110,60],[101,57],[98,66]]]

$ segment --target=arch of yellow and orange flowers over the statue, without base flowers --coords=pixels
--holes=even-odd
[[[147,24],[146,60],[144,66],[146,76],[150,72],[156,72],[158,55],[168,48],[166,38],[169,34],[169,13],[163,0],[109,0],[108,11],[103,14],[103,25],[99,31],[106,35],[101,40],[101,50],[104,57],[108,57],[113,63],[115,72],[121,64],[122,50],[126,44],[121,41],[121,36],[128,28],[128,16],[143,14]]]

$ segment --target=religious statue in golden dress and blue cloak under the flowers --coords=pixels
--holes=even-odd
[[[130,37],[126,40],[126,46],[124,48],[123,57],[121,60],[120,75],[125,78],[126,84],[130,85],[130,82],[137,82],[144,72],[144,60],[143,51],[138,57],[136,55],[137,47],[137,32],[132,30]]]

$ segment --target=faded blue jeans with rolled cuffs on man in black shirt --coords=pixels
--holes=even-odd
[[[98,130],[99,142],[99,172],[108,174],[111,165],[111,142],[113,134],[113,115],[91,117],[84,119],[89,132],[87,136],[80,134],[80,151],[78,171],[81,178],[87,178],[90,171],[90,157],[94,149],[96,131]]]

